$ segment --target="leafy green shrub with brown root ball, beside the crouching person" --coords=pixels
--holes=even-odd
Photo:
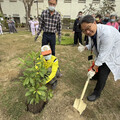
[[[52,98],[52,90],[46,85],[48,72],[44,67],[40,52],[29,53],[25,60],[19,58],[23,75],[20,80],[26,88],[27,110],[33,113],[40,112],[49,99]]]

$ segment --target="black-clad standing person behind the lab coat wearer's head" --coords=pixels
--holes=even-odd
[[[82,18],[82,11],[78,13],[77,19],[74,22],[73,26],[73,32],[74,32],[74,46],[78,44],[78,39],[79,43],[82,44],[82,31],[80,28],[80,20]]]

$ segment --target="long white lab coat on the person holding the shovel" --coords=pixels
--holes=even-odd
[[[86,47],[91,50],[93,41],[89,37]],[[92,48],[96,55],[95,65],[101,66],[106,63],[114,75],[114,80],[120,79],[120,33],[112,26],[97,24],[97,51]]]

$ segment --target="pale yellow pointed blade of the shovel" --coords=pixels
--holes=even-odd
[[[75,99],[73,107],[80,113],[80,115],[82,114],[82,112],[86,109],[86,104],[83,102],[83,100],[81,99]]]

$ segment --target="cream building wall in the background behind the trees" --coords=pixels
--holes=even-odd
[[[103,0],[101,0],[102,2]],[[115,0],[116,4],[116,14],[120,16],[120,0]],[[92,3],[92,0],[86,0],[85,3],[78,3],[78,0],[72,0],[71,3],[64,3],[64,0],[58,0],[56,10],[59,11],[64,16],[70,16],[71,19],[75,19],[78,12],[82,11],[84,8],[84,5],[89,5]],[[39,14],[41,14],[42,10],[46,9],[48,7],[48,0],[44,0],[43,3],[38,3],[39,5]],[[20,22],[25,22],[25,8],[22,1],[17,0],[17,2],[9,2],[9,0],[4,0],[4,2],[1,2],[1,6],[3,9],[4,14],[6,14],[8,17],[9,15],[13,16],[13,14],[19,14]],[[99,4],[98,4],[99,7]],[[31,16],[37,16],[37,5],[36,3],[33,3],[32,9],[31,9]]]

